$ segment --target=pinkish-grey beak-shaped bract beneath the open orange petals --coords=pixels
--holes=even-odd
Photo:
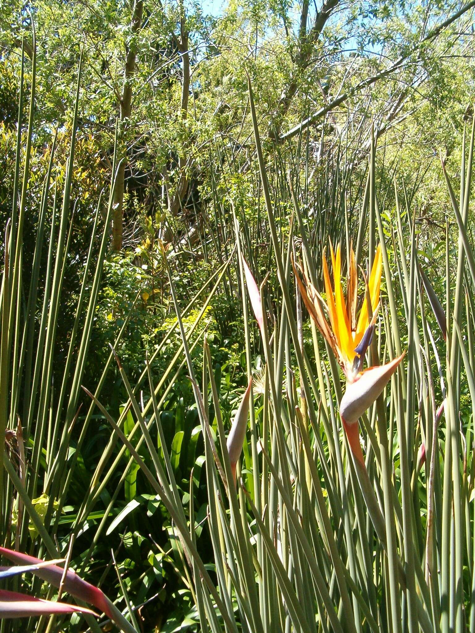
[[[404,354],[402,353],[398,358],[386,363],[386,365],[371,367],[361,372],[355,382],[351,382],[346,386],[345,394],[343,394],[339,404],[339,413],[347,424],[357,422],[371,404],[374,403],[398,368],[404,358]]]

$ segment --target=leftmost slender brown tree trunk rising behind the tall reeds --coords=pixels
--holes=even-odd
[[[134,35],[140,30],[142,25],[143,0],[134,0],[132,8],[132,41],[127,49],[127,57],[125,58],[124,70],[124,88],[120,96],[120,130],[119,143],[123,149],[120,150],[119,158],[127,158],[127,150],[125,149],[125,128],[127,127],[127,119],[130,118],[132,110],[132,85],[130,79],[134,74],[136,67],[136,43]],[[124,228],[124,180],[125,180],[125,163],[124,160],[117,172],[117,180],[114,192],[114,210],[112,216],[112,248],[120,251],[122,248],[122,232]]]

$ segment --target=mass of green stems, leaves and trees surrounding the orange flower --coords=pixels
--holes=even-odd
[[[124,630],[415,631],[418,601],[423,630],[462,630],[469,617],[474,628],[475,279],[460,264],[474,235],[457,223],[459,194],[447,195],[438,157],[464,213],[472,14],[278,142],[276,130],[390,67],[458,8],[338,4],[307,38],[300,4],[229,2],[218,18],[200,3],[144,3],[136,32],[127,3],[0,7],[0,536],[67,558],[125,614]],[[132,111],[117,124],[131,48]],[[118,155],[124,249],[112,253]],[[305,308],[295,337],[291,255],[319,285],[328,237],[344,253],[353,242],[365,270],[375,241],[386,244],[374,343],[381,361],[409,350],[360,429],[372,493],[339,424],[338,368]],[[242,258],[265,280],[263,337]],[[417,263],[448,315],[450,346]],[[236,494],[226,439],[251,375]],[[447,502],[457,491],[460,511]],[[434,567],[422,577],[430,503],[440,580]],[[8,587],[58,596],[27,577]],[[10,624],[99,630],[79,615]]]

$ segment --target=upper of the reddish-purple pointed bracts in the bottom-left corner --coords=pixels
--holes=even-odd
[[[5,558],[8,558],[8,560],[11,560],[13,563],[22,563],[23,565],[37,565],[38,563],[44,562],[39,558],[34,558],[34,556],[28,556],[27,554],[2,547],[0,547],[0,554]],[[48,565],[47,567],[40,567],[32,570],[32,573],[42,580],[46,580],[46,582],[49,582],[54,587],[59,587],[64,570],[62,567],[58,567],[58,565]],[[80,578],[72,569],[68,569],[66,572],[63,589],[75,598],[79,598],[80,600],[89,603],[89,605],[96,606],[109,618],[114,619],[114,614],[111,610],[111,603],[101,589],[98,589],[98,587],[94,587],[94,585],[91,585],[89,582],[82,580],[82,578]]]

